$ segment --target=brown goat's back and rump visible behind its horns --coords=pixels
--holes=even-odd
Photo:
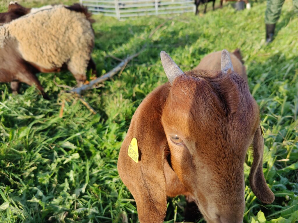
[[[233,68],[247,83],[246,69],[243,65],[242,56],[239,49],[233,53],[229,53],[232,61]],[[203,59],[195,70],[221,70],[221,51],[216,51],[208,54]]]

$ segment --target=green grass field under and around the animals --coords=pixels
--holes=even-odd
[[[55,1],[20,2],[36,7]],[[117,173],[117,158],[134,111],[167,81],[159,53],[166,51],[182,70],[190,70],[223,48],[242,51],[265,132],[263,171],[276,196],[265,205],[251,192],[248,156],[244,222],[297,222],[298,18],[286,0],[276,38],[265,45],[266,2],[252,4],[240,12],[231,3],[213,12],[210,4],[203,16],[187,13],[169,21],[171,16],[125,21],[94,16],[92,55],[99,74],[119,63],[108,55],[125,58],[148,43],[121,75],[84,93],[95,115],[55,85],[53,79],[74,87],[69,72],[38,76],[51,100],[34,86],[22,85],[21,94],[12,95],[9,84],[0,83],[0,222],[138,222],[136,203]],[[0,11],[6,9],[7,1],[0,1]],[[166,222],[183,221],[184,205],[184,197],[170,198]]]

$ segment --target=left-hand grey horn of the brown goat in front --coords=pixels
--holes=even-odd
[[[178,67],[178,65],[166,52],[160,52],[160,60],[162,61],[164,72],[166,73],[167,78],[169,79],[171,84],[173,84],[176,77],[178,77],[181,74],[184,74],[184,72]]]

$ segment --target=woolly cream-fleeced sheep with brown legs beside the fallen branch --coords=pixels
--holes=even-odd
[[[11,82],[14,93],[19,82],[35,84],[47,98],[35,73],[67,67],[77,82],[83,83],[86,69],[95,66],[90,16],[79,4],[60,5],[0,26],[0,82]]]

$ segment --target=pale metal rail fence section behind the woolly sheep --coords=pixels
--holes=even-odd
[[[93,14],[120,18],[195,12],[194,0],[80,0]]]

